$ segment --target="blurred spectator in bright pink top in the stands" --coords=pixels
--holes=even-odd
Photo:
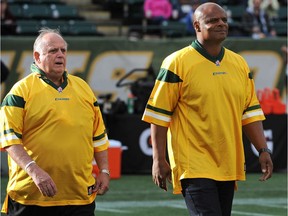
[[[147,24],[162,24],[172,16],[172,4],[169,0],[145,0],[144,14]]]

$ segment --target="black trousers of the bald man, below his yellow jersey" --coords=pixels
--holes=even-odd
[[[207,178],[181,180],[182,194],[190,216],[230,216],[235,181]]]

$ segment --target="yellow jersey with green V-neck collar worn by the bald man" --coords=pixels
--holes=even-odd
[[[168,127],[173,192],[180,180],[245,180],[242,126],[264,120],[245,60],[196,40],[164,59],[142,119]]]

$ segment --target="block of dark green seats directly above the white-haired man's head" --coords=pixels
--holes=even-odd
[[[41,27],[59,28],[63,35],[103,36],[97,24],[79,14],[75,5],[60,0],[9,0],[17,35],[36,35]]]

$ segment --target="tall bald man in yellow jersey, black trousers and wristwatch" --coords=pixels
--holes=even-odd
[[[200,5],[197,39],[164,59],[142,119],[151,124],[154,183],[183,195],[190,215],[231,215],[236,182],[245,180],[242,131],[272,176],[263,111],[244,58],[223,47],[225,10]],[[169,163],[166,159],[168,147]]]

